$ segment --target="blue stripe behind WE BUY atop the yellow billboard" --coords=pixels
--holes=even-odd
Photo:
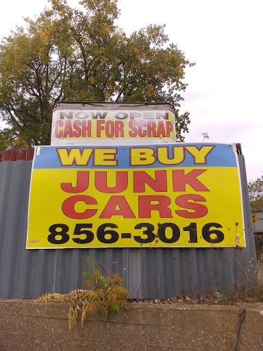
[[[195,162],[198,156],[202,153],[202,148],[206,147],[210,152],[208,152],[205,157],[205,162]],[[79,149],[79,154],[83,156],[85,149],[89,149],[88,153],[90,154],[87,158],[88,162],[86,165],[76,165],[75,158],[69,157],[73,160],[72,165],[62,165],[59,154],[62,149],[67,149],[67,152],[64,152],[67,156],[70,156],[71,150]],[[95,160],[95,149],[104,149],[105,150],[105,163],[109,160],[116,160],[114,165],[98,165],[97,160]],[[108,156],[108,149],[114,149],[114,155],[110,154]],[[137,149],[137,150],[136,150]],[[144,155],[146,150],[149,154],[149,159],[153,160],[151,164],[141,164],[140,162],[132,162],[131,154],[136,154],[138,156],[140,150],[140,160],[147,158]],[[206,150],[205,149],[205,150]],[[94,148],[90,146],[41,146],[40,154],[37,156],[38,147],[35,148],[35,158],[34,158],[34,169],[61,169],[61,168],[95,168],[95,169],[129,169],[129,168],[163,168],[163,167],[236,167],[236,156],[233,152],[232,144],[208,144],[208,143],[175,143],[175,144],[161,144],[161,145],[125,145],[125,146],[116,146],[116,147],[107,147],[107,146],[95,146]],[[204,149],[203,149],[204,150]],[[86,150],[87,151],[87,150]],[[76,150],[75,150],[76,152]],[[102,151],[103,152],[103,151]],[[176,155],[179,156],[176,156]],[[100,153],[101,155],[101,153]],[[183,156],[181,156],[183,155]],[[145,157],[144,157],[145,156]],[[173,158],[176,161],[173,163]],[[199,157],[200,158],[200,157]],[[166,161],[168,160],[168,162]],[[171,164],[167,164],[167,163]],[[134,164],[132,164],[134,163]],[[177,163],[177,164],[175,164]]]

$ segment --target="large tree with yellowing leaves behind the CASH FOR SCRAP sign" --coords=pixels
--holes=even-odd
[[[127,37],[116,25],[117,0],[49,0],[27,29],[16,28],[0,46],[0,114],[12,138],[49,144],[53,104],[63,101],[171,102],[177,139],[188,131],[179,115],[179,94],[192,66],[164,25],[149,25]]]

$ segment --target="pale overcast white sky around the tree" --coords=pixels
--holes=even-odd
[[[75,7],[78,0],[68,0]],[[47,0],[13,0],[0,12],[0,37],[23,17],[33,18]],[[190,112],[185,141],[241,143],[248,180],[262,175],[262,0],[119,0],[117,24],[127,34],[166,24],[171,43],[196,65],[187,69],[181,113]],[[207,139],[205,139],[207,141]]]

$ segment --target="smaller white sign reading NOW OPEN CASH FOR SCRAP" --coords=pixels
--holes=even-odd
[[[170,104],[107,106],[58,104],[53,110],[51,145],[175,143],[175,110]]]

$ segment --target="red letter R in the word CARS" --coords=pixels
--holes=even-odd
[[[151,211],[158,211],[160,218],[172,218],[172,213],[168,206],[171,199],[165,195],[139,195],[139,218],[151,218]],[[158,202],[158,204],[151,204]]]

